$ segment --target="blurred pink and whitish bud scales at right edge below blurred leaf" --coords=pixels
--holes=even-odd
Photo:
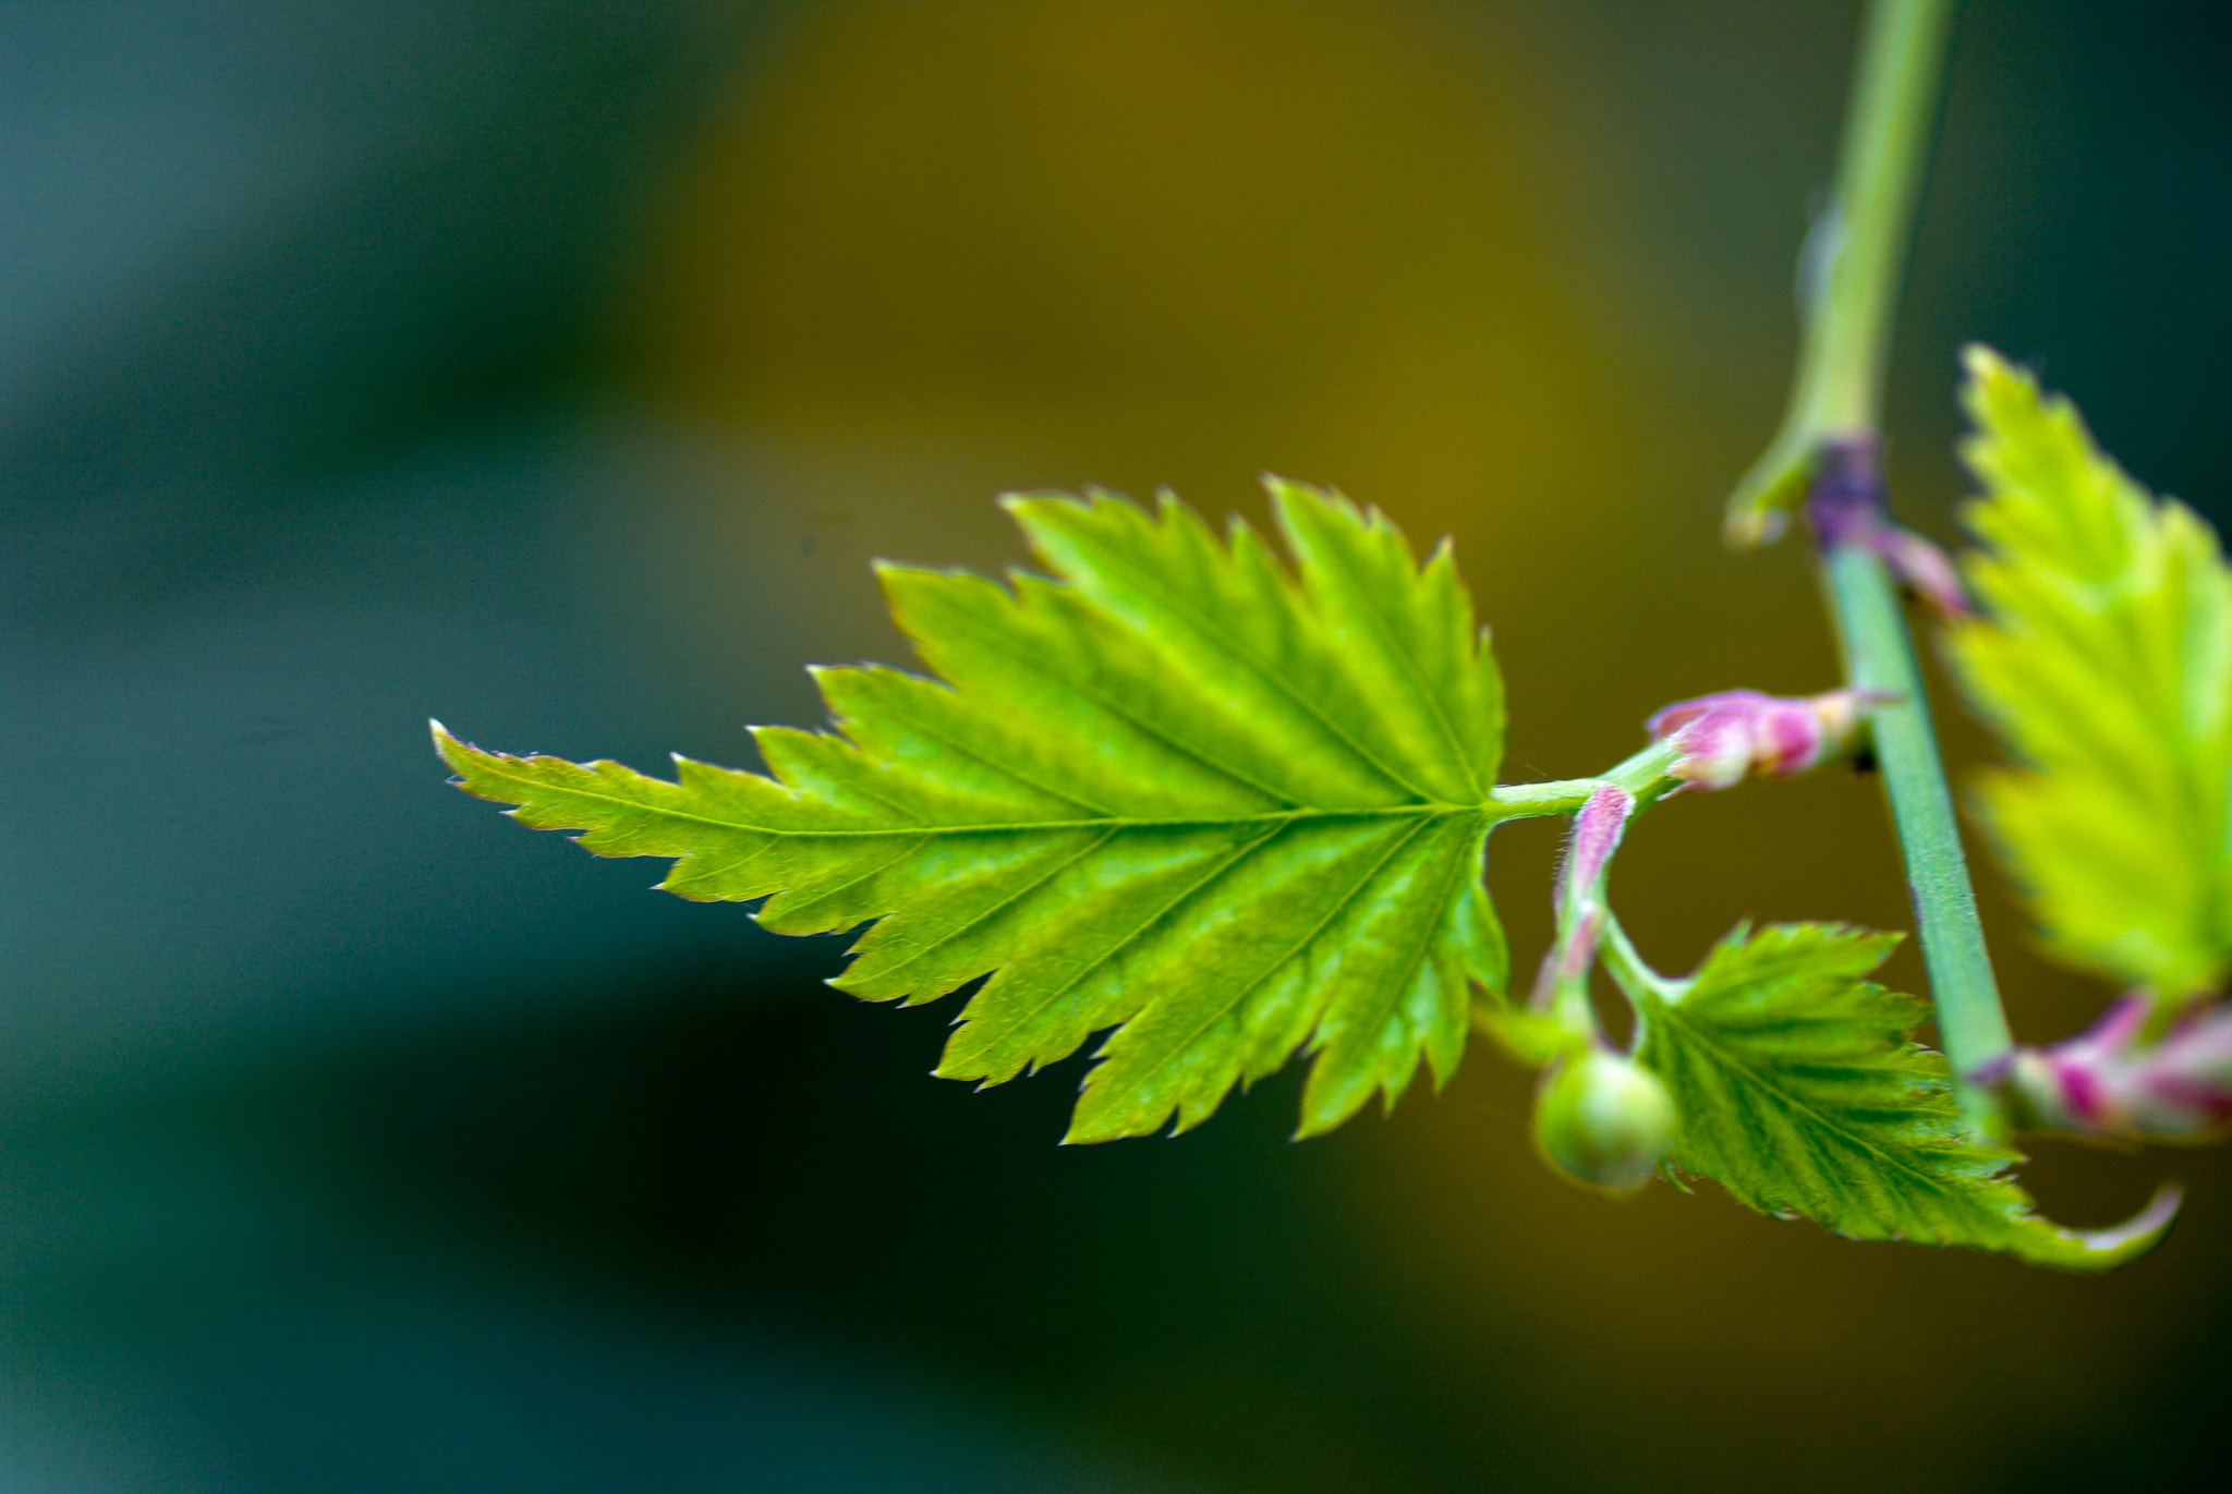
[[[2087,1032],[2018,1047],[1978,1079],[2007,1085],[2042,1130],[2127,1141],[2203,1141],[2232,1123],[2232,1009],[2190,1007],[2147,1038],[2154,996],[2125,992]]]

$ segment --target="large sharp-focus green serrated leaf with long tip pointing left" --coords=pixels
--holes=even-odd
[[[1315,1054],[1301,1132],[1455,1067],[1507,951],[1482,884],[1502,683],[1446,545],[1270,480],[1292,567],[1165,496],[1009,498],[1051,578],[882,567],[940,679],[817,670],[835,735],[754,728],[768,775],[504,757],[462,786],[779,933],[873,927],[833,985],[991,976],[937,1072],[1000,1083],[1114,1029],[1071,1141],[1208,1119]]]

